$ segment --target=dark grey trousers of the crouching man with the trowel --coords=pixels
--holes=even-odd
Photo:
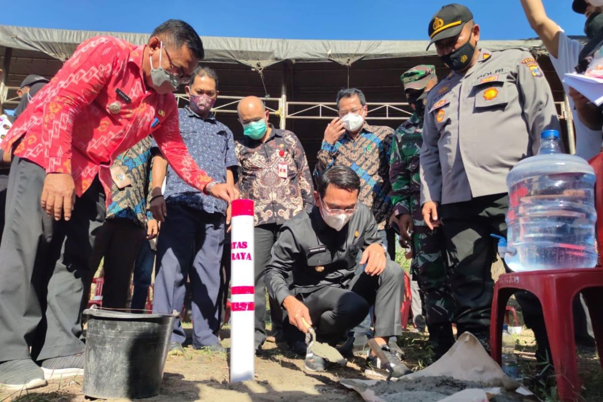
[[[371,277],[363,272],[355,275],[346,288],[323,286],[313,292],[300,293],[297,298],[308,307],[318,341],[335,344],[348,330],[360,324],[370,306],[374,306],[374,336],[402,334],[400,306],[403,294],[404,271],[388,260],[380,275]],[[288,319],[283,320],[283,325],[290,343],[305,339]]]

